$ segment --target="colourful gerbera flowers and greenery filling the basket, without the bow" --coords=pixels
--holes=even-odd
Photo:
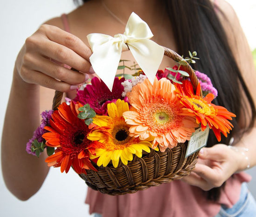
[[[201,72],[195,72],[200,82],[194,91],[183,67],[195,59],[196,53],[189,54],[178,66],[159,70],[153,85],[136,65],[128,67],[121,60],[123,73],[115,77],[112,92],[94,77],[73,100],[43,112],[27,152],[39,157],[46,148],[48,166],[87,174],[97,166],[127,165],[152,149],[172,149],[198,127],[204,131],[209,125],[218,141],[221,133],[227,137],[235,115],[211,103],[217,92]],[[125,68],[135,73],[125,74]]]

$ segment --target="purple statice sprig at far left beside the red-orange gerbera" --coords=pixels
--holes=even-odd
[[[52,118],[52,114],[53,114],[53,110],[46,110],[45,112],[41,113],[42,119],[41,119],[41,124],[40,126],[34,131],[34,135],[31,139],[29,139],[29,141],[27,142],[27,147],[26,147],[26,151],[29,154],[35,155],[34,151],[31,151],[31,145],[34,142],[35,139],[37,139],[37,141],[39,143],[45,141],[44,138],[42,138],[42,135],[44,133],[46,133],[47,131],[44,129],[44,127],[46,125],[50,125],[50,119]]]

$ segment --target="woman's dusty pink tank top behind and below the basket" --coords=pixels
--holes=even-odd
[[[62,14],[61,19],[64,29],[70,32],[67,15]],[[207,200],[206,192],[180,180],[121,196],[88,188],[85,202],[90,214],[101,213],[103,217],[214,217],[221,204],[229,208],[236,204],[241,184],[250,180],[245,172],[229,178],[218,202]]]

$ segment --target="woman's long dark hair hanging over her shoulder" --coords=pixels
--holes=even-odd
[[[233,135],[241,137],[244,132],[248,132],[253,127],[256,109],[215,8],[210,0],[162,0],[162,2],[171,20],[177,52],[184,55],[188,51],[198,53],[200,60],[193,67],[206,73],[218,90],[218,97],[214,103],[236,114],[237,118],[232,121],[234,129],[227,138],[222,139],[222,143],[229,144]],[[238,88],[239,86],[242,90]],[[242,97],[242,92],[246,96],[245,99]],[[245,101],[249,102],[249,108],[245,107],[247,105]],[[241,111],[244,111],[243,115],[250,114],[250,117],[246,118],[250,121],[243,129],[238,125]],[[207,146],[217,143],[215,136],[209,135]],[[219,195],[220,188],[208,191],[208,198],[211,200],[216,201]]]

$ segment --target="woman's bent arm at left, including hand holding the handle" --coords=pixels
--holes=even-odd
[[[54,19],[48,24],[61,26],[61,20]],[[42,25],[27,38],[13,71],[1,165],[7,188],[20,200],[33,196],[48,172],[45,153],[37,158],[26,152],[26,143],[40,124],[40,112],[51,109],[54,90],[68,92],[72,86],[83,83],[91,66],[88,61],[91,50],[74,35],[52,25]],[[84,73],[71,71],[50,59]]]

